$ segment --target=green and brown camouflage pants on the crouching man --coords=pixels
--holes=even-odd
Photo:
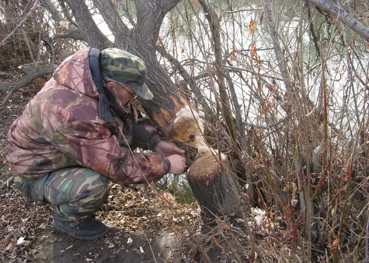
[[[91,169],[65,168],[41,178],[14,178],[17,188],[28,199],[55,204],[54,217],[77,226],[106,200],[108,179]]]

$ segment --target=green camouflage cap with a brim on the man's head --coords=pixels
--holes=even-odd
[[[127,84],[138,96],[151,100],[154,96],[145,84],[144,61],[118,48],[107,48],[100,52],[100,71],[106,77]]]

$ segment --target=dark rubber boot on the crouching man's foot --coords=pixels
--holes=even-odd
[[[89,216],[77,226],[72,226],[70,222],[62,221],[62,216],[54,210],[54,228],[68,234],[76,239],[94,240],[104,237],[109,232],[109,228],[102,222],[96,220],[94,216]]]

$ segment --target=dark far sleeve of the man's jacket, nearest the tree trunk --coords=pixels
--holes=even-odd
[[[162,140],[158,129],[147,119],[139,119],[135,129],[133,144],[144,150],[154,151]]]

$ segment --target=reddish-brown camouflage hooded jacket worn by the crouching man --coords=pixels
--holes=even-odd
[[[154,150],[158,130],[131,105],[119,116],[112,110],[98,54],[85,48],[64,60],[10,127],[6,160],[22,178],[82,166],[128,185],[157,181],[169,171],[161,154],[131,154],[137,146]]]

